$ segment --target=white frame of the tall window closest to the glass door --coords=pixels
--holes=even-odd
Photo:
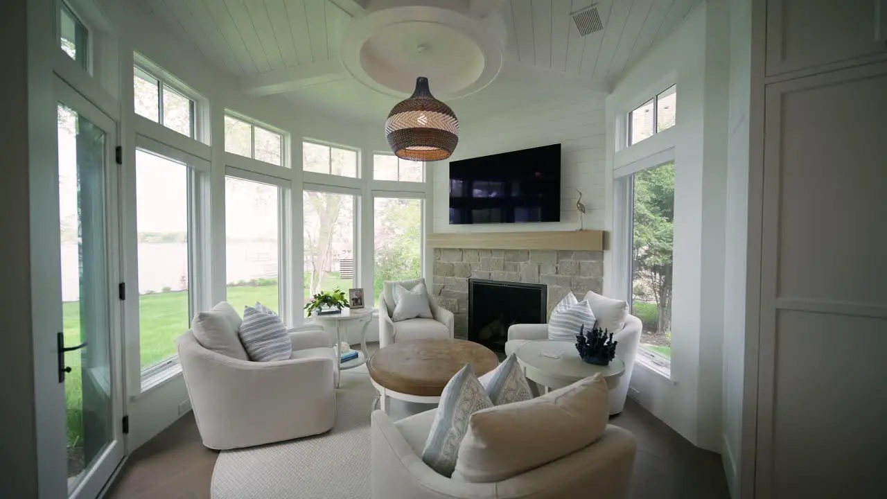
[[[205,305],[208,300],[208,295],[210,293],[210,289],[208,286],[209,275],[207,273],[207,268],[209,266],[208,254],[205,250],[205,246],[208,244],[204,238],[208,235],[208,207],[204,206],[208,201],[208,184],[209,184],[209,172],[210,172],[210,163],[208,160],[195,156],[193,154],[184,152],[176,147],[167,146],[166,144],[159,142],[157,140],[151,139],[145,135],[137,134],[136,135],[136,144],[134,147],[134,157],[138,151],[142,151],[146,154],[153,154],[155,156],[161,157],[163,159],[177,162],[182,164],[188,171],[187,173],[187,218],[188,218],[188,227],[187,227],[187,260],[188,260],[188,322],[190,323],[191,318],[193,317],[196,311],[202,310],[204,307],[201,305]],[[145,393],[151,391],[154,387],[164,383],[167,379],[172,376],[176,376],[177,373],[181,372],[181,364],[178,358],[178,353],[174,353],[172,356],[165,360],[161,360],[151,366],[146,368],[141,367],[142,360],[142,352],[141,352],[141,318],[140,318],[140,310],[139,310],[139,300],[137,297],[138,294],[138,227],[137,227],[137,188],[136,185],[136,170],[137,170],[137,162],[133,162],[130,168],[131,175],[131,184],[130,188],[127,189],[126,193],[122,196],[121,202],[125,205],[124,210],[131,210],[132,215],[131,218],[128,218],[136,223],[132,224],[130,231],[127,231],[126,237],[131,241],[133,249],[135,249],[131,253],[131,257],[127,257],[127,263],[125,265],[128,266],[127,274],[132,277],[130,281],[133,282],[130,288],[130,293],[135,292],[136,299],[127,300],[130,302],[127,309],[128,316],[130,319],[127,321],[127,326],[130,332],[127,334],[130,337],[129,345],[133,345],[134,348],[130,348],[130,352],[126,355],[127,360],[130,361],[139,376],[138,380],[138,390],[136,393]]]

